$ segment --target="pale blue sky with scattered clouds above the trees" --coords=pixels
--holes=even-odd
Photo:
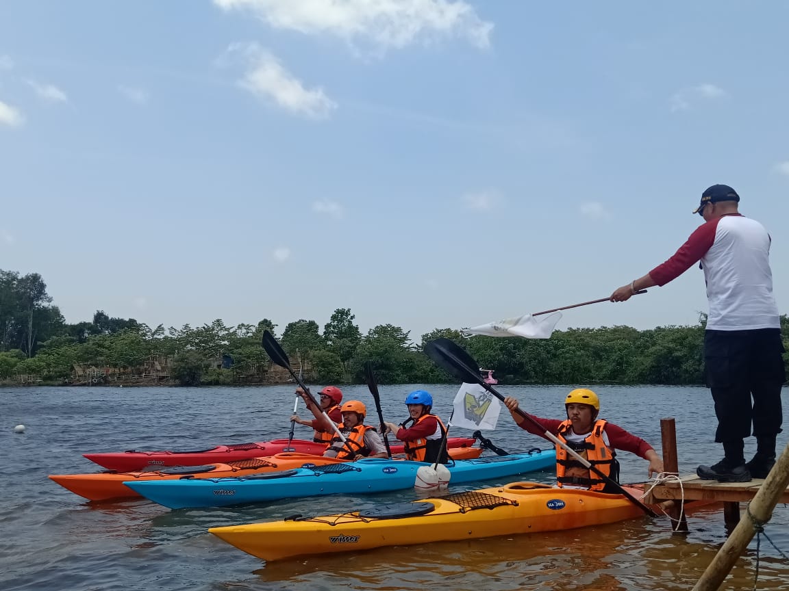
[[[0,5],[0,268],[68,322],[350,307],[418,340],[611,294],[710,184],[789,312],[789,5]],[[693,324],[701,271],[557,328]]]

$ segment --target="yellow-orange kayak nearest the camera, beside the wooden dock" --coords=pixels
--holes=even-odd
[[[636,498],[641,496],[641,490],[627,490]],[[639,515],[644,513],[623,495],[513,482],[366,511],[212,527],[208,531],[252,556],[279,560],[381,546],[568,530]]]

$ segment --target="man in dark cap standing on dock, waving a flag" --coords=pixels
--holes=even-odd
[[[705,372],[718,418],[715,440],[724,444],[724,459],[698,466],[696,473],[721,482],[767,477],[776,461],[781,386],[786,381],[772,295],[770,235],[758,221],[739,214],[739,199],[733,188],[712,185],[693,212],[705,223],[666,262],[611,294],[611,302],[624,302],[640,289],[667,284],[701,261],[709,300]],[[743,440],[750,436],[751,423],[757,452],[746,463]]]

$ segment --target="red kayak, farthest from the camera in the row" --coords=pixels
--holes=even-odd
[[[473,437],[450,437],[449,448],[470,448],[476,439]],[[135,472],[146,470],[151,466],[201,466],[204,464],[230,463],[240,459],[260,458],[264,455],[275,455],[283,452],[295,452],[310,455],[323,455],[325,444],[294,439],[288,444],[286,439],[274,439],[257,443],[235,445],[218,445],[215,448],[189,452],[144,452],[129,450],[128,452],[83,454],[93,463],[117,472]],[[402,444],[391,445],[392,453],[402,453]]]

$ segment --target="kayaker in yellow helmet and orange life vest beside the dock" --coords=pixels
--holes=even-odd
[[[588,388],[576,388],[564,400],[567,419],[540,418],[531,416],[542,426],[536,426],[517,413],[518,400],[512,396],[504,399],[504,404],[512,414],[512,418],[521,429],[544,437],[545,431],[553,433],[559,440],[567,444],[579,455],[592,463],[608,478],[619,481],[619,462],[616,450],[634,453],[649,461],[648,474],[660,474],[664,471],[663,460],[653,447],[641,437],[636,437],[620,426],[602,418],[600,399]],[[546,437],[547,438],[547,437]],[[560,487],[589,489],[599,492],[619,492],[599,476],[587,470],[578,460],[569,455],[561,446],[556,446],[556,483]]]

